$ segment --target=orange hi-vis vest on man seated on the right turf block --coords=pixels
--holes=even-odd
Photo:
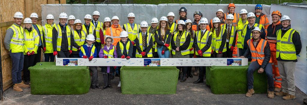
[[[260,38],[260,41],[258,42],[258,45],[256,48],[253,44],[254,38],[247,41],[247,45],[250,48],[251,51],[251,62],[257,61],[259,65],[262,65],[262,62],[264,60],[265,54],[264,54],[264,47],[266,47],[267,41]],[[270,58],[269,63],[272,63],[272,58]]]

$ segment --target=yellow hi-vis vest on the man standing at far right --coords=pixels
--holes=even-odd
[[[280,56],[280,58],[284,60],[296,60],[297,59],[295,46],[292,42],[292,36],[295,31],[296,30],[290,28],[284,34],[284,36],[282,36],[281,29],[277,31],[276,58]]]

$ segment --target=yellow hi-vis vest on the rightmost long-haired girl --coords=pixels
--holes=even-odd
[[[213,28],[212,28],[213,29]],[[215,49],[215,52],[216,53],[219,53],[219,49],[220,49],[220,46],[222,44],[222,38],[223,38],[223,34],[226,32],[227,30],[225,28],[222,28],[221,27],[221,31],[220,31],[220,35],[219,37],[216,36],[216,30],[213,30],[213,33],[212,33],[212,49]],[[227,32],[226,32],[227,33]],[[232,39],[233,40],[233,39]],[[229,42],[230,43],[230,42]],[[226,49],[226,44],[224,45],[224,48],[223,48],[223,51],[222,52],[226,52],[227,49]]]

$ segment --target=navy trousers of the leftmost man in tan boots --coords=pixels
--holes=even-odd
[[[12,81],[13,84],[21,82],[21,71],[23,69],[24,55],[23,52],[12,53],[10,51],[12,59]]]

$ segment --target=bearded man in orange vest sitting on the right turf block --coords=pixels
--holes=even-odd
[[[271,60],[271,51],[270,44],[268,41],[261,39],[260,34],[262,33],[259,27],[252,27],[252,36],[253,38],[247,41],[247,50],[245,54],[239,58],[247,58],[249,54],[251,54],[251,64],[247,69],[247,88],[248,91],[245,94],[247,97],[251,97],[253,93],[255,93],[253,89],[254,82],[254,72],[258,70],[258,73],[266,72],[266,76],[268,77],[268,98],[274,98],[274,81],[272,74],[272,60]]]

